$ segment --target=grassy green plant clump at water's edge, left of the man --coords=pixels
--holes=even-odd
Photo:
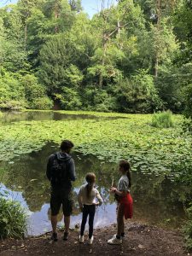
[[[26,212],[15,201],[0,198],[0,238],[23,238],[26,234]]]

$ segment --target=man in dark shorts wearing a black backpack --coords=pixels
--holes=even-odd
[[[47,177],[51,184],[51,224],[53,233],[51,239],[57,241],[57,215],[62,205],[64,214],[65,232],[63,240],[67,241],[70,216],[73,213],[72,181],[75,181],[75,165],[71,155],[73,143],[65,140],[61,143],[61,152],[51,154],[47,164]]]

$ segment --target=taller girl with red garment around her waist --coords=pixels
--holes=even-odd
[[[131,166],[127,160],[120,160],[119,172],[121,177],[119,179],[118,188],[112,187],[110,192],[115,195],[118,201],[117,207],[117,235],[108,240],[108,244],[121,244],[122,238],[125,237],[125,219],[132,218],[132,198],[130,194],[131,189]]]

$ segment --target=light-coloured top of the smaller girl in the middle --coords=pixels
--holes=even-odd
[[[93,188],[90,192],[90,197],[87,197],[87,189],[86,184],[83,185],[79,190],[78,202],[79,207],[83,207],[83,205],[91,206],[96,203],[96,198],[99,201],[99,205],[102,205],[102,196],[99,194],[99,191],[96,188]]]

